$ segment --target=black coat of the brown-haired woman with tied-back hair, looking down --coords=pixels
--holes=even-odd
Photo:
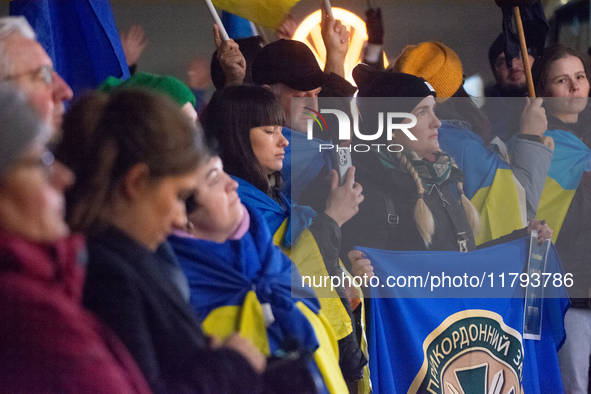
[[[163,256],[108,228],[88,239],[84,304],[123,340],[157,393],[254,393],[257,374],[238,353],[213,350]]]

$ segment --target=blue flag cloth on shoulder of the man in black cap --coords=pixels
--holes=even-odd
[[[306,133],[300,133],[284,127],[283,135],[289,141],[285,147],[285,158],[281,175],[285,181],[283,193],[295,203],[308,184],[317,177],[330,174],[332,164],[332,150],[319,152],[320,144],[327,144],[318,138],[308,140]]]

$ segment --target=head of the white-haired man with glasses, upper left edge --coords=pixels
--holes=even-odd
[[[24,17],[0,18],[0,80],[22,89],[42,119],[59,135],[72,89],[53,70],[51,58],[37,42]]]

